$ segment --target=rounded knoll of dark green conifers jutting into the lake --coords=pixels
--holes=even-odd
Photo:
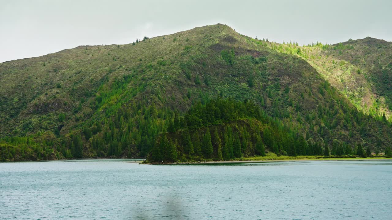
[[[367,156],[360,144],[351,146],[334,139],[329,146],[314,141],[309,133],[303,135],[268,116],[252,101],[212,99],[205,105],[196,104],[183,117],[175,115],[169,120],[168,132],[160,135],[149,156],[151,162],[230,160],[264,156],[266,151],[289,156],[330,156],[329,152]]]

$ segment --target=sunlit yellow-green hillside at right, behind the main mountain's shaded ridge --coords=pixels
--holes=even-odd
[[[392,42],[367,37],[334,45],[268,45],[305,59],[359,110],[392,120]]]

